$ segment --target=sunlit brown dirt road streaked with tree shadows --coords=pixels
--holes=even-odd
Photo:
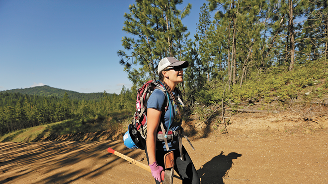
[[[214,131],[193,138],[196,151],[184,142],[201,184],[328,184],[326,124],[294,133],[291,127],[239,131],[241,126],[231,126],[229,136]],[[147,164],[143,151],[126,149],[122,141],[6,142],[0,143],[0,184],[153,184],[150,173],[107,153],[108,147]],[[182,183],[177,177],[173,182]]]

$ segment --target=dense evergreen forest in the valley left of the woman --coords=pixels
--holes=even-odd
[[[41,88],[26,90],[35,89]],[[57,91],[64,90],[57,89]],[[89,96],[92,95],[87,94],[86,98]],[[108,94],[104,91],[101,97],[92,100],[71,99],[65,91],[63,97],[23,94],[15,91],[0,92],[0,135],[68,119],[86,124],[86,122],[94,122],[97,118],[104,119],[113,113],[132,112],[133,96],[132,92],[124,86],[120,94]]]

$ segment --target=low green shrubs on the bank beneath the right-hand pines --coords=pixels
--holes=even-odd
[[[323,60],[309,61],[303,65],[295,66],[293,71],[287,71],[285,67],[271,67],[265,72],[249,72],[242,86],[232,85],[225,90],[225,83],[209,82],[203,90],[197,93],[196,100],[202,104],[221,103],[222,99],[231,104],[243,101],[273,100],[290,101],[292,98],[304,96],[305,88],[314,87],[319,80],[325,80],[322,88],[317,88],[311,95],[304,98],[310,100],[313,97],[321,98],[328,89],[328,67]],[[225,92],[225,93],[224,93]]]

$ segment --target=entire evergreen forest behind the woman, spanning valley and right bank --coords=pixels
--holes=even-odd
[[[129,6],[124,49],[117,55],[133,82],[131,90],[89,97],[0,92],[0,135],[65,119],[83,123],[112,112],[128,111],[132,117],[137,89],[158,79],[158,63],[169,56],[189,62],[178,86],[187,114],[204,106],[328,104],[327,0],[207,0],[195,20],[195,35],[183,24],[195,7],[177,9],[182,2],[136,0]]]

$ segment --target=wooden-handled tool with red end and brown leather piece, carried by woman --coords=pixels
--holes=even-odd
[[[143,164],[141,162],[138,162],[126,155],[123,155],[111,148],[108,148],[107,149],[107,152],[108,153],[112,153],[128,162],[131,162],[132,164],[135,164],[139,167],[141,167],[142,169],[152,173],[150,167],[146,164]],[[162,178],[162,181],[163,183],[162,184],[173,184],[173,168],[174,168],[174,155],[173,155],[173,151],[169,152],[169,153],[166,153],[164,155],[164,164],[165,164],[165,170],[162,171],[161,173],[161,178]]]

